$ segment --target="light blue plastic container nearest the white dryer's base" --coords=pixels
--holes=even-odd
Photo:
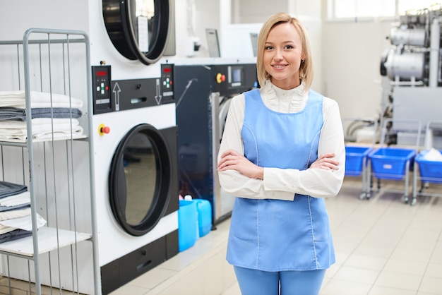
[[[196,242],[198,235],[198,211],[193,200],[179,200],[178,246],[184,251]]]

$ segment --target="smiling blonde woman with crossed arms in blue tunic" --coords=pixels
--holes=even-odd
[[[261,89],[232,99],[218,155],[237,196],[227,261],[243,295],[318,294],[335,263],[323,198],[345,174],[338,104],[310,90],[309,39],[287,13],[263,24],[256,66]]]

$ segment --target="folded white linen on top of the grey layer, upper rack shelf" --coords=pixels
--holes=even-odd
[[[0,91],[0,107],[16,107],[25,109],[25,91]],[[83,107],[83,101],[76,97],[60,95],[48,92],[30,92],[30,102],[32,108],[37,107],[71,107],[80,109]]]

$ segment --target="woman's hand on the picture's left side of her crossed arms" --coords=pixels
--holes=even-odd
[[[253,179],[263,179],[264,169],[249,161],[236,150],[226,150],[218,162],[218,171],[236,170]]]

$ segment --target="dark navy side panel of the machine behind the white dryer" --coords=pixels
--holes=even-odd
[[[178,66],[174,68],[177,96],[178,161],[181,186],[188,186],[194,198],[211,200],[213,183],[210,134],[210,68]],[[183,195],[184,197],[184,195]]]

